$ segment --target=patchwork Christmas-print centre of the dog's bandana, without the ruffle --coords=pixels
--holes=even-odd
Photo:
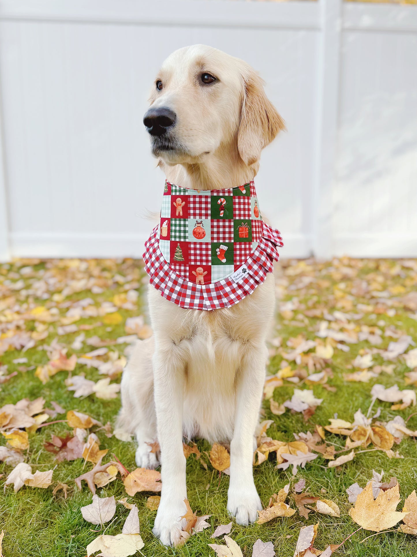
[[[261,233],[253,182],[207,191],[165,183],[159,248],[187,281],[202,286],[233,275],[254,253]]]

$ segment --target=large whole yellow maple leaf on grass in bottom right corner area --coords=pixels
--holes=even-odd
[[[368,483],[365,489],[358,495],[355,506],[350,509],[351,518],[365,530],[380,532],[397,524],[406,512],[396,511],[400,502],[400,487],[391,487],[386,491],[380,491],[374,500],[372,483]]]

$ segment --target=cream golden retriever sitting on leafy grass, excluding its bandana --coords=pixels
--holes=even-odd
[[[167,180],[197,190],[248,183],[262,149],[285,127],[252,67],[203,45],[180,48],[163,63],[144,123]],[[252,456],[274,277],[227,309],[182,309],[151,286],[148,304],[153,337],[138,341],[123,372],[119,426],[136,434],[138,466],[161,464],[153,533],[175,545],[186,513],[183,437],[230,442],[227,510],[236,522],[254,522],[262,508]]]

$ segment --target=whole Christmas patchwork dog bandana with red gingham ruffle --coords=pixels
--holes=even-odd
[[[145,270],[161,295],[187,309],[231,307],[278,261],[279,231],[262,221],[255,184],[198,191],[165,182]]]

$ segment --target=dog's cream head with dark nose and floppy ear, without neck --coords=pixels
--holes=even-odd
[[[198,163],[235,143],[250,166],[285,128],[255,70],[204,45],[180,48],[165,60],[143,123],[152,153],[168,165]]]

